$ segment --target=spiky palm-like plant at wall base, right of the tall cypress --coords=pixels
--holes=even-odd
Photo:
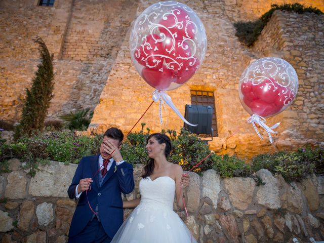
[[[89,127],[93,112],[90,112],[90,108],[82,109],[75,113],[61,115],[60,118],[65,120],[65,126],[71,130],[84,131]]]

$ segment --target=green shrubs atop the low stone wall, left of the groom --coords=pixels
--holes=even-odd
[[[7,160],[19,158],[25,169],[34,176],[39,164],[49,160],[75,163],[83,156],[97,154],[102,136],[76,136],[70,130],[37,134],[32,138],[21,137],[12,144],[0,144],[0,169],[8,172]]]

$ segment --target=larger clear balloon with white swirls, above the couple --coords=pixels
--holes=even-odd
[[[139,74],[160,91],[183,85],[205,57],[203,23],[188,6],[159,2],[136,19],[130,36],[132,61]]]

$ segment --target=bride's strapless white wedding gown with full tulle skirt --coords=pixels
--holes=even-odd
[[[119,228],[111,243],[196,243],[173,211],[175,181],[168,176],[141,179],[141,203]]]

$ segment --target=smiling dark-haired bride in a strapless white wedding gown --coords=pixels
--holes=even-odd
[[[147,138],[148,164],[139,183],[141,198],[124,201],[124,208],[135,208],[111,242],[119,243],[196,243],[189,229],[173,211],[176,202],[183,209],[182,191],[189,177],[181,166],[168,162],[171,140],[154,133]],[[187,196],[185,195],[185,199]]]

